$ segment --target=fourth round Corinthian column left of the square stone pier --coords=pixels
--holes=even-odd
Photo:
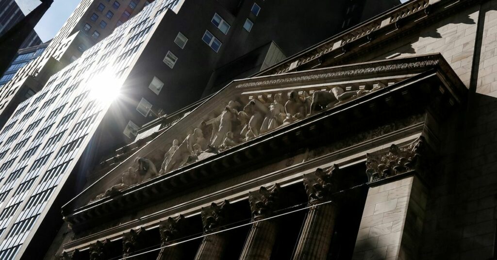
[[[181,238],[181,234],[185,230],[186,220],[183,215],[175,218],[168,218],[159,223],[159,231],[161,232],[161,246],[168,246]],[[157,260],[181,260],[182,259],[181,245],[169,246],[161,249]]]

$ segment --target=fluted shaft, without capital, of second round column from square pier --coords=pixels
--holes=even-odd
[[[250,228],[240,260],[269,260],[276,242],[276,222],[263,220]]]

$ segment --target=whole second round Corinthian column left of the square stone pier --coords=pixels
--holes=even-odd
[[[263,220],[272,215],[279,193],[279,185],[269,189],[261,187],[249,192],[248,200],[252,211],[252,221]],[[263,220],[252,224],[240,260],[268,260],[276,241],[276,222]]]

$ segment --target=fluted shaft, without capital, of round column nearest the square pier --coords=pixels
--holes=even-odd
[[[315,201],[313,204],[319,204]],[[333,202],[309,208],[293,260],[326,260],[337,215]]]

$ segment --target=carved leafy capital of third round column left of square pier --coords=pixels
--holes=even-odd
[[[220,229],[220,227],[227,224],[230,202],[225,200],[221,203],[214,203],[208,207],[202,208],[202,225],[204,232],[213,232]]]

